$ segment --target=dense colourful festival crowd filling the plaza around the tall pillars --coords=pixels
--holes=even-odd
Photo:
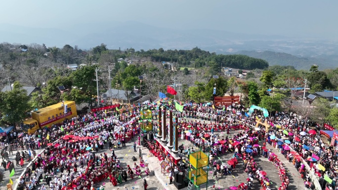
[[[102,181],[108,177],[113,185],[116,185],[117,183],[122,183],[122,179],[126,181],[127,176],[133,177],[134,173],[139,175],[139,167],[141,166],[137,167],[136,163],[136,166],[124,169],[119,166],[120,160],[114,156],[114,153],[108,156],[97,155],[95,152],[102,150],[105,144],[109,144],[109,148],[113,152],[114,149],[125,146],[127,141],[130,141],[132,137],[137,136],[140,132],[137,122],[140,110],[150,109],[153,111],[154,118],[157,118],[156,111],[160,106],[165,106],[168,110],[175,110],[173,102],[168,100],[154,102],[140,105],[135,107],[134,110],[127,110],[122,115],[119,115],[118,111],[108,113],[101,111],[79,115],[64,123],[62,127],[39,130],[31,135],[24,134],[21,138],[18,138],[17,144],[20,146],[25,144],[31,150],[44,148],[50,142],[61,139],[57,144],[49,145],[46,149],[47,151],[38,155],[38,158],[32,164],[32,169],[28,169],[20,181],[19,187],[25,187],[25,184],[28,184],[26,182],[29,181],[34,181],[30,186],[38,185],[38,182],[42,179],[42,174],[48,179],[49,183],[47,185],[50,185],[50,182],[54,182],[52,183],[54,190],[62,189],[62,187],[66,186],[72,187],[75,184],[76,187],[90,189],[92,182]],[[181,138],[191,141],[204,152],[210,152],[212,165],[214,164],[213,157],[225,152],[236,152],[235,156],[245,157],[243,159],[246,162],[245,165],[248,166],[249,164],[251,167],[254,165],[253,157],[255,155],[267,156],[272,159],[271,161],[280,170],[282,180],[280,189],[287,189],[289,182],[285,181],[287,178],[285,170],[283,170],[283,164],[278,163],[278,158],[275,154],[257,143],[258,141],[266,140],[267,143],[277,147],[290,162],[295,164],[299,173],[302,174],[301,177],[304,179],[306,187],[312,189],[313,184],[311,185],[309,171],[302,165],[301,158],[306,160],[311,170],[318,175],[319,181],[322,182],[322,188],[328,187],[333,190],[336,188],[338,154],[332,146],[324,142],[318,135],[318,131],[315,131],[315,133],[312,131],[313,129],[309,122],[299,120],[297,115],[293,113],[276,112],[264,118],[263,114],[258,111],[250,115],[247,112],[248,109],[240,104],[232,106],[186,104],[183,112],[175,111],[174,114],[181,118],[179,123]],[[192,120],[186,118],[192,118]],[[265,127],[248,130],[249,126],[255,125],[257,118],[262,119],[262,122],[267,120],[270,125],[268,131],[265,131]],[[203,120],[211,122],[207,123]],[[157,133],[157,128],[158,125],[154,122],[155,134]],[[229,131],[237,129],[243,129],[246,132],[241,135],[238,134],[239,136],[230,137]],[[222,132],[220,135],[214,135],[215,131]],[[76,139],[73,139],[74,137]],[[248,148],[248,146],[252,146],[252,148]],[[88,147],[91,149],[88,149]],[[9,147],[7,147],[8,149]],[[190,147],[186,149],[188,154],[193,152]],[[246,152],[247,149],[252,150],[252,152]],[[19,154],[20,161],[21,158],[31,157],[31,155],[28,156],[27,152]],[[2,155],[3,153],[1,153]],[[320,158],[320,160],[316,158]],[[2,159],[5,159],[5,155]],[[3,166],[4,164],[1,165]],[[6,163],[6,169],[9,169],[7,165]],[[142,165],[147,167],[144,163]],[[41,169],[42,171],[40,171]],[[231,165],[226,165],[225,167],[223,164],[219,164],[218,169],[222,171],[220,172],[222,175],[226,175],[233,168],[231,168]],[[254,169],[257,170],[255,167]],[[66,174],[64,174],[65,172]],[[60,177],[58,178],[57,175],[59,173]],[[328,176],[332,182],[327,183],[325,176]],[[54,180],[50,180],[52,177],[54,177]],[[266,179],[263,176],[258,179],[261,179],[260,182],[263,181],[261,183],[263,188],[268,189]],[[252,183],[252,181],[250,182]],[[249,182],[246,184],[248,186]]]

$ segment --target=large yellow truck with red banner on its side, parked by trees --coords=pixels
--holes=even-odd
[[[22,130],[31,134],[43,127],[50,127],[74,116],[77,116],[75,102],[60,102],[32,112],[32,118],[23,121]]]

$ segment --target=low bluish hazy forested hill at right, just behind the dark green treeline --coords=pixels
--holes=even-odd
[[[334,69],[337,67],[337,63],[325,59],[326,56],[321,56],[318,58],[309,58],[309,57],[297,57],[288,53],[280,53],[273,51],[239,51],[236,54],[248,55],[257,59],[263,59],[269,63],[270,66],[280,65],[280,66],[294,66],[297,70],[308,70],[311,65],[316,64],[321,70],[324,69]]]

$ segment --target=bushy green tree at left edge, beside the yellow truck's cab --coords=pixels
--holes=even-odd
[[[9,126],[16,126],[20,123],[30,111],[29,99],[27,91],[18,81],[14,82],[11,91],[0,92],[0,113],[2,115],[0,121]]]

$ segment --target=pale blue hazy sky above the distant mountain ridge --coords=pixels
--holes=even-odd
[[[3,0],[0,23],[66,29],[138,21],[174,29],[337,38],[338,0]]]

